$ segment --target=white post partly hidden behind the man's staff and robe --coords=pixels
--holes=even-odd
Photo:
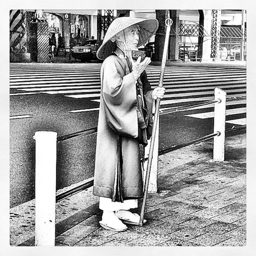
[[[148,156],[148,154],[149,154],[150,141],[151,140],[148,140],[148,145],[145,147],[145,156]],[[151,193],[151,194],[157,192],[158,145],[159,145],[159,118],[157,120],[156,136],[155,136],[153,157],[152,157],[152,163],[151,163],[151,171],[150,171],[149,183],[148,183],[148,193]],[[147,166],[148,166],[148,161],[145,161],[145,163],[144,163],[145,172],[143,174],[143,183],[144,184],[145,184],[145,180],[146,180]]]

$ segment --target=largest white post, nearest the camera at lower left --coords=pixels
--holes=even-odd
[[[55,245],[57,133],[37,131],[36,140],[36,246]]]

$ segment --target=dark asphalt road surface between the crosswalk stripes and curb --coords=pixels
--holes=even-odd
[[[26,72],[24,72],[24,74],[26,74]],[[154,74],[154,72],[152,72],[152,74]],[[149,77],[150,75],[151,74],[149,74]],[[194,88],[198,81],[200,81],[200,77],[195,81]],[[193,84],[191,87],[193,88]],[[189,94],[189,89],[185,90],[187,90],[187,94]],[[237,90],[237,88],[233,90]],[[11,89],[11,93],[18,92],[21,91]],[[199,92],[199,95],[201,94],[202,96],[204,92]],[[168,95],[173,93],[172,91],[167,91],[167,100],[169,98]],[[179,94],[179,92],[175,93]],[[208,92],[206,93],[208,94]],[[10,120],[11,207],[34,198],[35,141],[32,138],[36,131],[56,131],[58,136],[64,136],[97,126],[97,110],[80,113],[71,113],[68,111],[74,109],[98,108],[99,103],[97,100],[93,101],[88,97],[65,97],[65,95],[67,94],[49,94],[41,92],[10,97],[10,116],[32,116],[29,118]],[[178,100],[186,96],[181,95],[179,97],[179,95],[174,95],[174,97],[174,99]],[[199,96],[194,95],[192,97],[195,98]],[[95,99],[95,97],[93,99]],[[197,100],[195,102],[197,102]],[[173,104],[169,105],[173,106]],[[169,105],[165,104],[163,106],[168,107]],[[177,102],[176,105],[184,105],[184,103]],[[228,105],[227,109],[245,107],[246,104],[243,101]],[[159,150],[212,133],[213,118],[202,119],[187,116],[189,114],[207,113],[211,111],[213,111],[213,108],[203,108],[160,115]],[[228,115],[226,120],[245,117],[246,113],[242,111],[242,113]],[[233,123],[226,123],[227,129],[233,126]],[[235,126],[237,125],[235,124]],[[56,189],[67,187],[93,176],[95,144],[96,134],[57,144]]]

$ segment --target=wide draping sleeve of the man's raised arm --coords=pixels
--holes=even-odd
[[[114,56],[102,64],[102,97],[107,123],[119,135],[138,137],[136,84],[132,73],[124,73]]]

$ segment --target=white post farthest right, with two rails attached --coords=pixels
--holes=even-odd
[[[220,103],[216,102],[214,105],[214,133],[220,132],[220,136],[213,138],[213,161],[224,161],[226,95],[223,90],[215,88],[214,99],[220,99]]]

